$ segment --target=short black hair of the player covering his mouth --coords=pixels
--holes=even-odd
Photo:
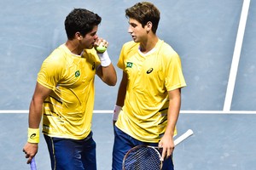
[[[84,37],[88,32],[92,31],[94,26],[98,26],[102,18],[98,14],[85,9],[74,8],[65,20],[65,30],[67,38],[72,40],[76,32]]]

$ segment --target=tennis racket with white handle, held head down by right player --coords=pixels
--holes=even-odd
[[[193,131],[189,129],[180,137],[174,140],[174,145],[180,144],[184,139],[189,138]],[[129,150],[123,160],[123,170],[160,170],[162,159],[160,147],[148,146],[146,144],[137,145]]]

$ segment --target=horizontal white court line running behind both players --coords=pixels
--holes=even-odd
[[[0,114],[23,114],[28,113],[28,110],[0,110]],[[96,110],[93,113],[111,114],[111,110]],[[180,111],[181,114],[256,114],[256,111]]]

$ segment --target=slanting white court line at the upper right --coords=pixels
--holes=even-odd
[[[244,31],[247,24],[247,15],[248,15],[249,7],[250,7],[250,0],[244,0],[241,8],[241,17],[240,17],[240,22],[238,26],[237,36],[236,36],[236,44],[235,44],[232,64],[230,68],[230,78],[228,82],[226,97],[224,100],[223,111],[230,111],[230,107],[232,103],[232,98],[233,98],[233,93],[234,93],[234,88],[236,83],[236,74],[237,74],[239,59],[241,55],[241,45],[244,37]]]

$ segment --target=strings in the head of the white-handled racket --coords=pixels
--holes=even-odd
[[[158,170],[161,167],[160,154],[150,147],[131,150],[125,159],[125,170]]]

